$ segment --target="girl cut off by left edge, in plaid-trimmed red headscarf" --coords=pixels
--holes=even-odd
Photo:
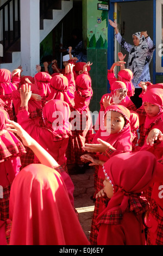
[[[21,141],[7,131],[9,115],[0,108],[0,244],[7,245],[5,228],[8,227],[9,197],[12,181],[18,174],[21,161],[20,156],[26,153]]]

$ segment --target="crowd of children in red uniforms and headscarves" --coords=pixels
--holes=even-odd
[[[115,77],[90,115],[92,63],[69,47],[64,70],[36,66],[0,70],[0,244],[163,245],[163,86],[141,82],[137,108],[133,73]],[[122,58],[121,54],[119,54]],[[90,240],[74,208],[70,174],[95,166]]]

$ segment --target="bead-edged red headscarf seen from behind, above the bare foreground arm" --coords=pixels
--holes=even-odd
[[[68,103],[62,100],[49,100],[42,110],[45,126],[60,138],[68,138],[71,134],[70,114]]]

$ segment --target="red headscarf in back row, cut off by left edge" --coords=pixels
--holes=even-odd
[[[17,87],[11,83],[11,72],[8,69],[0,69],[0,96],[11,96],[13,90],[17,90]]]

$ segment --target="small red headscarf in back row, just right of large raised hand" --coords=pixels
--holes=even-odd
[[[42,97],[47,97],[51,93],[50,82],[51,82],[51,75],[46,72],[38,72],[34,76],[35,84],[39,89],[39,94]]]

